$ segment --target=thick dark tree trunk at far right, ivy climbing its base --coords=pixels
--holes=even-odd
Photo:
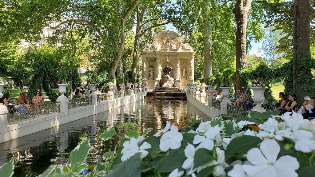
[[[310,57],[310,2],[309,0],[294,0],[293,14],[294,14],[294,33],[293,33],[293,93],[296,94],[297,103],[303,103],[306,91],[304,89],[305,83],[301,82],[299,75],[305,73],[310,68],[303,68],[304,71],[299,70],[299,65],[304,57]]]

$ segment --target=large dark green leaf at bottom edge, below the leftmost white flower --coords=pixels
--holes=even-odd
[[[126,161],[114,165],[112,171],[110,171],[106,177],[135,177],[141,176],[140,166],[141,154],[136,153],[134,156],[130,157]]]

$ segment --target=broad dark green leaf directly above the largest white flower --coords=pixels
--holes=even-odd
[[[229,157],[235,153],[247,153],[250,149],[257,147],[261,143],[261,139],[255,136],[244,135],[234,138],[226,147],[225,156]]]

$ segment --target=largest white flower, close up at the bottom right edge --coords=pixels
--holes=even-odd
[[[297,177],[295,170],[300,166],[297,159],[282,156],[277,160],[279,152],[280,146],[276,140],[262,141],[260,149],[253,148],[247,152],[247,160],[253,165],[243,165],[244,172],[251,177]],[[235,171],[241,173],[239,166],[235,167]]]

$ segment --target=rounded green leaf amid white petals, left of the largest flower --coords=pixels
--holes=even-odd
[[[213,151],[209,151],[208,149],[201,148],[195,152],[194,156],[194,168],[200,167],[206,163],[209,163],[215,160],[213,157]]]

